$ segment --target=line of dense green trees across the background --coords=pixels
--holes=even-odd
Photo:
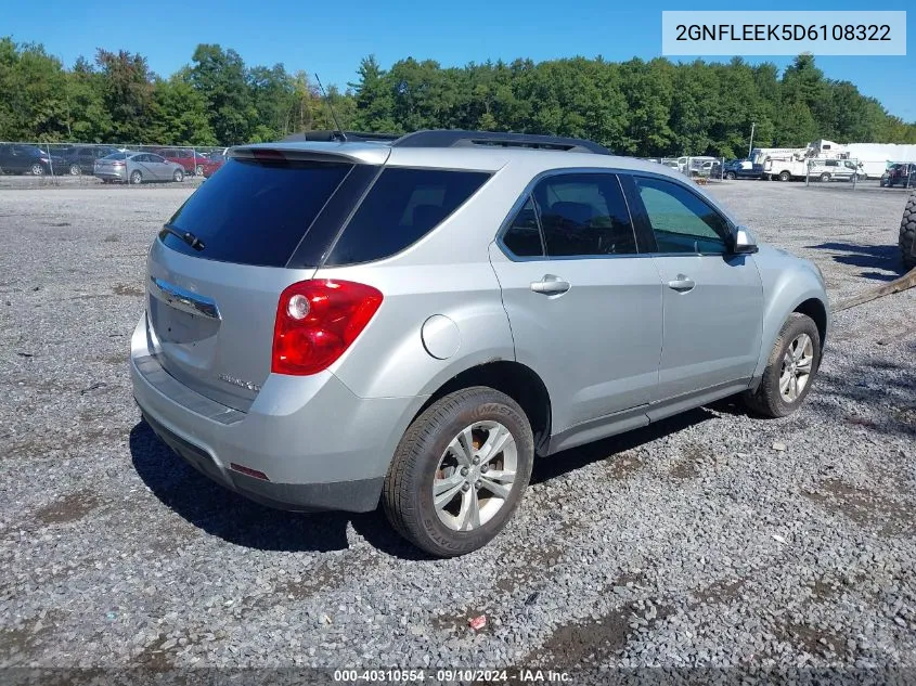
[[[328,106],[330,105],[330,106]],[[335,128],[401,133],[482,129],[595,140],[621,154],[747,153],[760,146],[916,143],[916,124],[890,115],[849,81],[827,79],[810,55],[772,63],[608,62],[572,57],[442,67],[412,57],[322,98],[305,72],[246,66],[234,50],[201,44],[169,77],[144,56],[98,50],[65,67],[41,44],[0,38],[0,140],[233,145]]]

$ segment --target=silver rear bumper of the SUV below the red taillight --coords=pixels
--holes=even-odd
[[[166,444],[225,488],[280,509],[374,509],[397,444],[422,404],[418,398],[359,398],[324,372],[271,375],[241,412],[163,368],[150,349],[145,314],[131,341],[130,374],[137,404]]]

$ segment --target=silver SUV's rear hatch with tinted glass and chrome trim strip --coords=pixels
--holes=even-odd
[[[163,230],[146,287],[164,368],[247,411],[270,374],[280,294],[312,276],[360,196],[354,184],[367,185],[377,167],[323,154],[240,154],[166,224],[203,249]]]

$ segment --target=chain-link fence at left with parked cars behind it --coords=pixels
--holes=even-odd
[[[222,166],[227,150],[215,145],[0,141],[0,185],[201,182]],[[112,155],[115,157],[109,158]],[[117,167],[118,173],[108,173],[114,167],[104,169],[109,160],[124,163]],[[131,171],[137,173],[131,176]]]

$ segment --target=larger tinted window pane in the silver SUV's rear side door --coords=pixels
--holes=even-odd
[[[560,174],[534,186],[550,257],[630,255],[636,238],[617,177]]]

